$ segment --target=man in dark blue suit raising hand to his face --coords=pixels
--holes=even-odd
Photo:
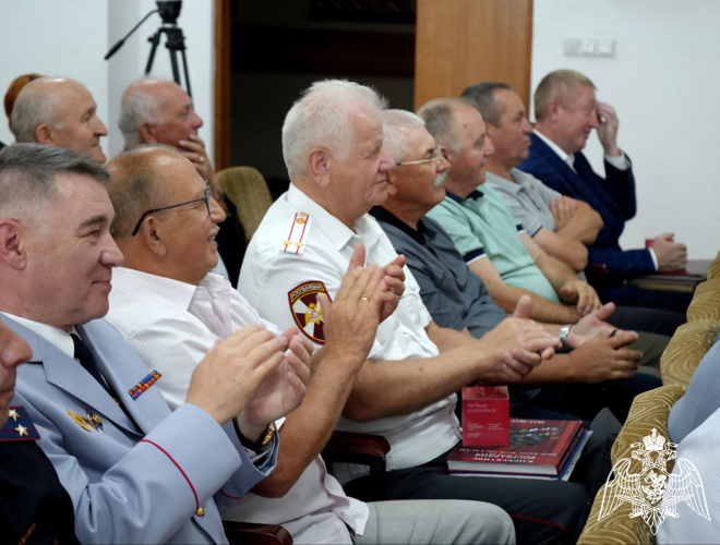
[[[687,249],[670,233],[658,237],[647,250],[622,250],[620,235],[625,221],[637,211],[635,178],[629,158],[617,147],[617,116],[598,102],[592,82],[578,72],[559,70],[548,74],[535,94],[537,124],[530,136],[530,155],[519,169],[565,195],[588,203],[604,222],[590,245],[590,263],[604,264],[608,277],[599,286],[601,296],[619,304],[685,312],[685,293],[641,290],[623,286],[628,279],[656,270],[682,269]],[[605,154],[603,179],[590,167],[581,149],[596,129]]]

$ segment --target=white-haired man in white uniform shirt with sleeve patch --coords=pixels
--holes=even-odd
[[[315,83],[292,106],[283,128],[291,184],[265,216],[240,274],[241,293],[263,318],[297,325],[319,346],[319,298],[335,296],[355,246],[364,244],[369,263],[405,265],[367,215],[385,202],[395,165],[383,147],[384,108],[373,89],[343,81]],[[519,380],[552,355],[556,338],[526,318],[527,300],[482,339],[441,328],[404,270],[404,298],[380,325],[338,427],[387,438],[387,497],[489,501],[511,512],[518,542],[572,540],[587,501],[581,486],[569,494],[556,482],[499,486],[449,476],[446,463],[461,435],[455,392],[476,380]]]

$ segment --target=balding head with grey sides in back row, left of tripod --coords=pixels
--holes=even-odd
[[[108,130],[93,95],[75,80],[40,77],[28,83],[17,95],[11,122],[17,143],[64,147],[100,165],[107,160],[100,138]]]

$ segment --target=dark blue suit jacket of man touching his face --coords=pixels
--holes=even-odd
[[[578,152],[575,154],[577,172],[574,172],[537,134],[532,134],[530,141],[530,155],[518,168],[564,195],[585,201],[604,221],[597,240],[588,247],[590,263],[604,264],[611,283],[655,272],[648,250],[623,250],[619,243],[625,221],[637,211],[633,168],[619,170],[605,161],[608,178],[603,179]]]

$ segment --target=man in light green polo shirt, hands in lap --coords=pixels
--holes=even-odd
[[[507,312],[524,294],[532,299],[532,318],[573,324],[599,308],[595,289],[564,263],[538,246],[485,181],[493,153],[482,116],[467,99],[440,98],[418,114],[451,164],[443,203],[428,215],[451,235],[466,263]]]

